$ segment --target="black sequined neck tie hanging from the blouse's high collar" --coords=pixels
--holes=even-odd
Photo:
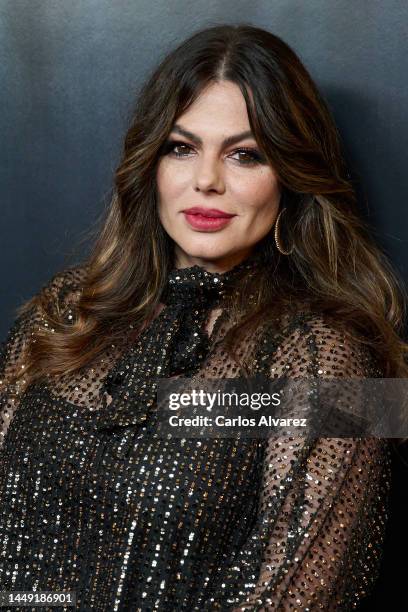
[[[169,272],[160,298],[165,307],[105,379],[104,397],[111,401],[100,410],[99,430],[129,427],[136,434],[148,426],[160,378],[190,377],[199,369],[212,343],[204,329],[209,313],[260,263],[255,253],[223,273],[198,265]],[[216,327],[211,338],[214,332]],[[117,456],[126,455],[133,438],[117,449]]]

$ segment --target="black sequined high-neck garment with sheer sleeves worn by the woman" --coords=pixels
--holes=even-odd
[[[223,298],[256,265],[171,270],[132,341],[25,390],[13,375],[38,329],[53,330],[40,308],[15,321],[0,367],[1,590],[75,591],[82,612],[357,609],[382,556],[386,440],[156,435],[161,377],[241,376]],[[67,269],[42,290],[67,322],[84,275]],[[240,356],[269,378],[381,376],[306,310],[261,325]]]

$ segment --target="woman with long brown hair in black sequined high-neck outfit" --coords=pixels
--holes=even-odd
[[[2,589],[93,611],[355,609],[386,440],[156,432],[164,378],[407,375],[403,293],[311,77],[265,30],[194,34],[140,92],[115,179],[92,256],[3,348]]]

